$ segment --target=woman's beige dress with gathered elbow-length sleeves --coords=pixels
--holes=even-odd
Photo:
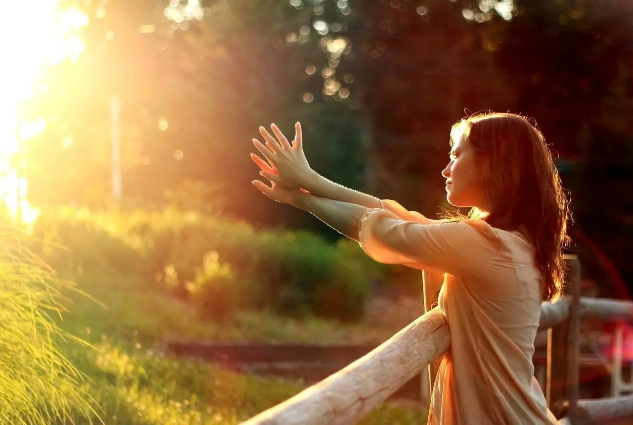
[[[541,283],[530,244],[484,220],[444,222],[396,201],[382,206],[360,220],[365,253],[377,262],[445,273],[438,303],[451,345],[428,423],[557,423],[532,364]]]

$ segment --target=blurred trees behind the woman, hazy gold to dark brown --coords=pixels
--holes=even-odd
[[[512,111],[534,118],[551,145],[587,276],[614,296],[633,281],[623,255],[633,224],[630,1],[97,3],[77,2],[90,18],[85,53],[55,68],[46,98],[24,111],[50,124],[28,141],[36,203],[109,193],[115,94],[128,205],[205,182],[213,190],[201,193],[227,215],[320,231],[249,183],[258,125],[290,132],[301,120],[315,170],[433,215],[448,206],[450,125]],[[72,145],[60,144],[67,137]]]

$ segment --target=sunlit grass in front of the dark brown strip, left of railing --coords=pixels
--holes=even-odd
[[[96,398],[106,424],[237,424],[306,388],[299,379],[237,374],[141,343],[103,338],[96,348],[72,350],[68,357],[91,377],[84,388]],[[426,419],[426,410],[388,403],[360,423],[422,424]]]

